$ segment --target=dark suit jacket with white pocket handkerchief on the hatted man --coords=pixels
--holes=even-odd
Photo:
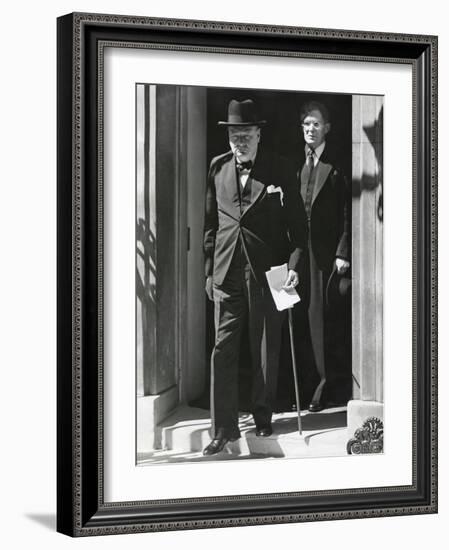
[[[287,262],[299,270],[307,248],[307,221],[296,186],[294,167],[259,148],[251,171],[251,196],[241,210],[239,181],[231,151],[215,157],[210,165],[204,225],[206,277],[220,286],[229,270],[240,238],[260,285],[266,285],[265,271]],[[268,193],[267,187],[281,187]]]

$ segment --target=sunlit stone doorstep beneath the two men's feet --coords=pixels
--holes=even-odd
[[[348,441],[346,407],[326,409],[320,413],[301,412],[303,433],[298,433],[296,412],[273,415],[274,433],[257,437],[250,414],[240,415],[241,438],[229,442],[216,459],[268,457],[327,457],[346,455]],[[170,462],[199,459],[210,442],[209,411],[187,406],[177,410],[159,424],[157,440],[161,449],[140,453],[138,463],[160,462],[164,456]],[[207,457],[203,457],[206,459]]]

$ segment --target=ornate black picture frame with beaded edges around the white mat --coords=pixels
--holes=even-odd
[[[70,536],[437,511],[437,38],[69,14],[58,19],[58,510]],[[105,499],[105,48],[398,64],[412,71],[411,483]],[[133,370],[134,365],[129,365]],[[348,453],[376,453],[366,419]],[[130,426],[129,430],[133,428]],[[387,449],[388,452],[388,449]],[[352,459],[353,457],[349,457]],[[363,457],[356,457],[363,459]],[[174,467],[174,466],[171,466]],[[204,467],[204,466],[198,466]],[[151,467],[149,467],[151,469]]]

